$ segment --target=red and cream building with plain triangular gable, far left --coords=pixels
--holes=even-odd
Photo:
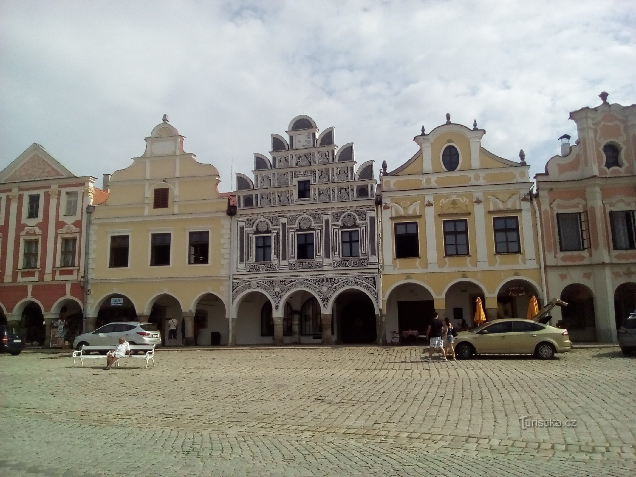
[[[107,193],[76,177],[39,144],[0,171],[0,322],[25,328],[27,345],[67,339],[82,326],[86,205]]]

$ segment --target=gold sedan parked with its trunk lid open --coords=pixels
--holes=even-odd
[[[534,354],[550,359],[572,349],[567,329],[528,319],[500,319],[462,331],[455,338],[455,354],[469,359],[474,354]]]

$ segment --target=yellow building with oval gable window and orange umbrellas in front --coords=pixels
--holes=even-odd
[[[392,331],[425,331],[437,311],[473,326],[525,317],[542,303],[541,254],[529,166],[481,147],[485,130],[446,123],[415,137],[419,150],[382,174],[382,312]]]

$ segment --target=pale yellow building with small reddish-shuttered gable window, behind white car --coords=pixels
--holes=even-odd
[[[88,331],[139,319],[157,324],[165,344],[228,340],[231,197],[183,140],[164,116],[144,154],[104,176],[109,197],[91,219]],[[177,340],[166,341],[173,317]]]

